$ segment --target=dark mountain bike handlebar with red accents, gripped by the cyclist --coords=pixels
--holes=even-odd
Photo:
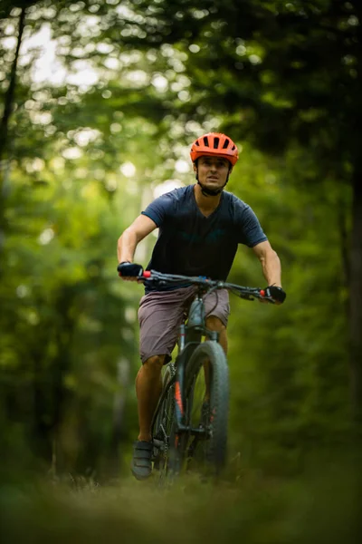
[[[253,300],[260,298],[271,304],[275,304],[275,300],[271,296],[265,295],[265,290],[260,287],[243,287],[235,284],[227,283],[223,280],[214,280],[203,276],[180,276],[176,274],[163,274],[157,270],[145,270],[138,280],[151,281],[159,286],[167,286],[180,282],[188,283],[195,286],[207,287],[207,291],[216,289],[227,289],[234,295],[240,296],[245,300]]]

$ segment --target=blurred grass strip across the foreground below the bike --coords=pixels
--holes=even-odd
[[[0,537],[6,544],[360,541],[360,457],[317,467],[288,480],[247,471],[216,485],[186,476],[168,489],[152,479],[12,481],[1,488]]]

